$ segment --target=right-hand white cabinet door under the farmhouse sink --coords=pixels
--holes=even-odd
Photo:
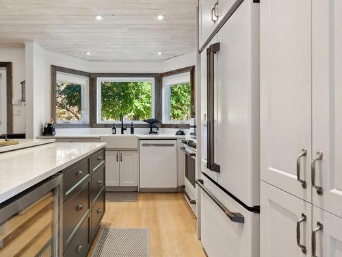
[[[137,186],[137,151],[120,151],[120,186]]]

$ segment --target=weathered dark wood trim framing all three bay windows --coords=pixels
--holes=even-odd
[[[180,73],[190,72],[190,84],[191,84],[191,117],[195,117],[195,66],[188,66],[182,69],[176,69],[174,71],[168,71],[165,73],[88,73],[85,71],[77,71],[75,69],[68,69],[62,66],[51,65],[51,119],[56,121],[56,78],[57,71],[63,73],[70,73],[74,75],[81,75],[89,78],[89,123],[88,124],[55,124],[57,128],[79,128],[79,127],[111,127],[109,123],[97,123],[97,78],[98,77],[153,77],[155,79],[155,119],[161,121],[162,116],[162,88],[163,77],[176,75]],[[121,124],[116,124],[116,127],[120,128]],[[135,124],[134,127],[142,128],[148,127],[148,124]],[[184,123],[161,123],[163,128],[189,128],[189,124]]]

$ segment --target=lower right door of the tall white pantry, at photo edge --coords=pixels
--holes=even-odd
[[[311,256],[342,257],[341,228],[341,218],[313,206],[313,245],[315,247]]]

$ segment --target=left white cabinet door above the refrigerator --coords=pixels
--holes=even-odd
[[[216,25],[219,21],[215,23],[211,20],[211,10],[214,8],[217,0],[200,0],[199,1],[199,43],[200,47],[209,38]],[[218,6],[217,6],[218,8]],[[218,10],[218,9],[217,9]]]

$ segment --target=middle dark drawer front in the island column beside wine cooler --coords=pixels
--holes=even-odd
[[[85,184],[83,188],[81,188],[75,195],[70,196],[70,199],[64,203],[64,219],[63,219],[63,243],[64,248],[68,241],[70,241],[70,237],[73,234],[73,231],[87,215],[90,210],[89,204],[89,195],[90,195],[90,182]]]

